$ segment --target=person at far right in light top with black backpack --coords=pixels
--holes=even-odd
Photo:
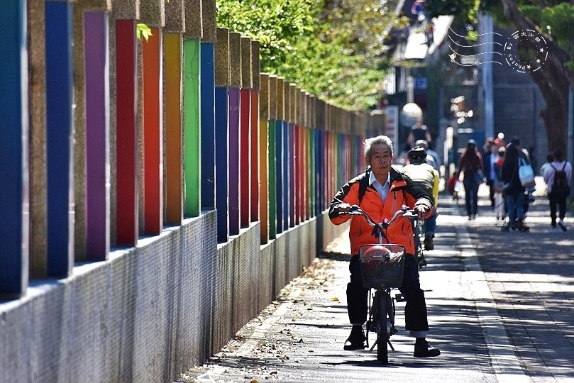
[[[560,221],[558,227],[562,231],[568,230],[564,223],[566,216],[566,197],[570,195],[570,186],[572,184],[572,165],[569,161],[564,160],[562,150],[554,150],[554,161],[546,167],[543,178],[548,188],[548,202],[550,203],[550,219],[553,230],[556,230],[556,204]]]

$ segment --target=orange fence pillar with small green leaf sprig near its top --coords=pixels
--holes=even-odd
[[[140,21],[152,32],[142,47],[143,232],[163,229],[163,0],[140,0]]]

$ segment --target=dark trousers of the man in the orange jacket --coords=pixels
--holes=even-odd
[[[368,289],[363,287],[358,255],[351,257],[349,263],[351,282],[347,284],[347,311],[351,324],[363,324],[367,321]],[[402,285],[399,287],[407,303],[404,306],[405,328],[409,331],[428,331],[426,301],[419,282],[419,265],[412,255],[405,255]]]

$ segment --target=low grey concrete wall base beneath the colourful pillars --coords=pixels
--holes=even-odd
[[[326,214],[260,245],[253,223],[217,245],[216,211],[35,280],[0,303],[0,382],[172,382],[200,365],[336,238]]]

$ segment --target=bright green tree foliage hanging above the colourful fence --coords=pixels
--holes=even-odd
[[[217,22],[261,43],[264,72],[345,109],[377,102],[397,0],[219,0]],[[380,5],[385,4],[385,5]]]

